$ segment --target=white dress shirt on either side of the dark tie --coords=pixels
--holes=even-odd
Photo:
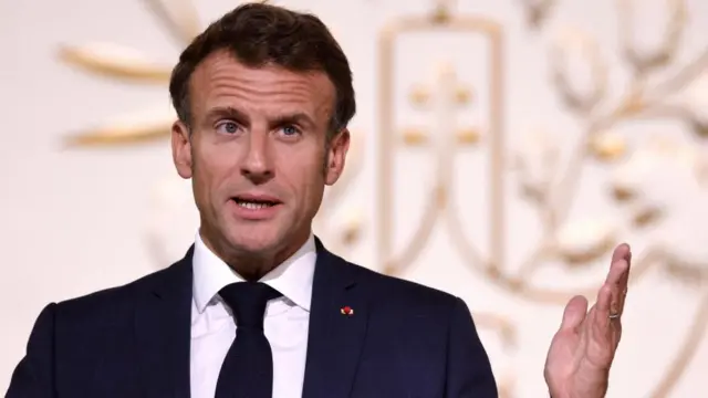
[[[273,352],[273,398],[302,396],[315,258],[310,235],[295,254],[261,279],[283,294],[268,303],[263,324]],[[218,292],[243,279],[205,245],[199,233],[192,266],[191,397],[214,398],[221,364],[237,333]]]

